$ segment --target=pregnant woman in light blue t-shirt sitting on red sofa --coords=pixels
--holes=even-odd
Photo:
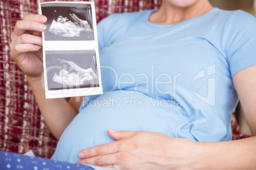
[[[98,25],[104,94],[69,103],[45,100],[41,87],[45,22],[17,22],[11,56],[59,139],[52,159],[115,169],[256,166],[256,138],[231,141],[238,97],[256,135],[254,16],[208,0],[108,16]]]

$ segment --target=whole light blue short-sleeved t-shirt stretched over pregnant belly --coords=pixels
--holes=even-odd
[[[153,10],[98,24],[104,94],[85,97],[52,159],[113,141],[108,128],[154,131],[194,141],[231,140],[238,103],[232,76],[256,64],[256,20],[214,8],[173,25],[150,23]]]

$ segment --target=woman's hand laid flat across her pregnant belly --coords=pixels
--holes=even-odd
[[[196,141],[169,138],[163,133],[147,131],[113,131],[111,143],[79,152],[78,164],[112,167],[115,169],[171,169],[188,167],[200,155]]]

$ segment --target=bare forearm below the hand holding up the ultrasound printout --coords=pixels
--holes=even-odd
[[[43,115],[46,125],[55,138],[59,140],[64,129],[78,114],[77,110],[69,105],[68,101],[64,98],[46,99],[41,79],[27,77],[27,81],[36,96],[39,110]]]

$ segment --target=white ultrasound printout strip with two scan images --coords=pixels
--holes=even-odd
[[[46,98],[102,94],[94,3],[49,2],[39,7],[47,17],[42,35]]]

